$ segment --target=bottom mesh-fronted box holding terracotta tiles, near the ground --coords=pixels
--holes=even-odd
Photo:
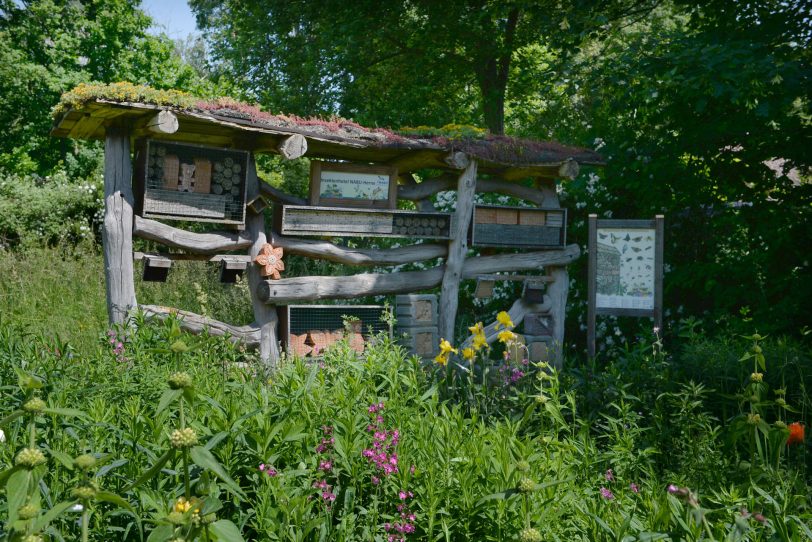
[[[363,352],[380,332],[391,335],[383,305],[289,305],[282,307],[283,347],[291,355],[315,357],[347,336],[350,346]],[[346,323],[346,325],[345,325]]]

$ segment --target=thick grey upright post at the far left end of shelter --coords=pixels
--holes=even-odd
[[[133,192],[130,135],[126,126],[107,128],[104,141],[104,277],[107,317],[123,324],[135,308],[133,281]]]

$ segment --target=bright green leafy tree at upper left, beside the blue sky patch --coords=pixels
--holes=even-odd
[[[129,0],[0,0],[0,168],[45,173],[66,156],[50,111],[80,82],[188,88],[196,74]]]

